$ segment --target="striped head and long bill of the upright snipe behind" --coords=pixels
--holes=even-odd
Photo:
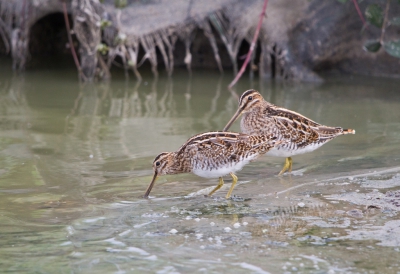
[[[232,116],[231,120],[226,124],[223,131],[227,131],[231,125],[240,117],[241,114],[252,111],[257,107],[261,107],[264,104],[264,98],[261,94],[254,89],[246,90],[239,99],[239,108],[236,113]]]

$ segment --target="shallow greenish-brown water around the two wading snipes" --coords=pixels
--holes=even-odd
[[[400,272],[399,80],[323,84],[184,70],[142,83],[80,85],[73,69],[0,66],[0,270],[37,273]],[[240,94],[356,129],[317,151],[262,157],[216,180],[163,176],[162,151],[222,129]],[[232,130],[239,130],[236,122]]]

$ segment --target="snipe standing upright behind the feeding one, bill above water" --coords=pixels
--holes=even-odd
[[[355,134],[353,129],[321,125],[303,115],[277,107],[264,100],[253,89],[245,91],[239,99],[239,108],[225,126],[224,131],[243,114],[240,128],[243,133],[258,135],[272,134],[278,140],[287,142],[275,146],[267,155],[286,157],[279,175],[292,171],[292,156],[311,152],[333,138],[343,134]]]

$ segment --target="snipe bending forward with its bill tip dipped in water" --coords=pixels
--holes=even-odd
[[[237,182],[234,173],[282,143],[275,139],[271,135],[250,136],[233,132],[206,132],[195,135],[178,151],[163,152],[154,159],[154,176],[143,197],[148,198],[159,175],[193,172],[205,178],[219,178],[218,185],[209,195],[222,187],[222,176],[230,174],[233,182],[226,195],[228,199]]]

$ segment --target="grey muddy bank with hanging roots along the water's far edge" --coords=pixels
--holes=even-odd
[[[49,56],[72,59],[67,17],[81,77],[87,81],[110,78],[111,67],[138,79],[148,69],[171,75],[180,66],[236,73],[263,2],[1,1],[0,53],[10,55],[18,71],[34,69]],[[372,2],[363,1],[360,9]],[[389,15],[399,11],[400,5],[393,4]],[[385,39],[396,35],[396,28],[388,28]],[[365,41],[379,36],[377,28],[363,29],[351,1],[271,0],[248,70],[264,78],[306,81],[319,81],[327,71],[399,77],[398,58],[362,49]]]

